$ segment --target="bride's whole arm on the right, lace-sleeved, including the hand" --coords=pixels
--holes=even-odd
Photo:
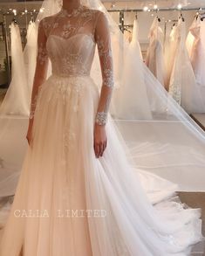
[[[103,156],[106,149],[106,120],[113,92],[113,57],[111,39],[106,16],[99,13],[95,29],[95,40],[98,45],[99,61],[102,73],[102,87],[99,107],[95,118],[94,149],[97,157]]]

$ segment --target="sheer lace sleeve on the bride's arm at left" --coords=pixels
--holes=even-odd
[[[33,80],[32,95],[31,95],[31,110],[30,110],[30,119],[33,119],[37,98],[38,98],[38,89],[42,85],[47,76],[48,68],[48,54],[46,51],[46,35],[44,32],[44,19],[40,21],[38,25],[38,55],[37,55],[37,65]]]

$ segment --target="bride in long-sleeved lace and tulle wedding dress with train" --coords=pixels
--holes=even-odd
[[[174,195],[151,204],[128,161],[108,113],[110,41],[105,14],[80,0],[64,0],[40,21],[30,147],[1,256],[182,256],[202,239],[200,211],[185,209]],[[101,93],[90,77],[95,45]]]

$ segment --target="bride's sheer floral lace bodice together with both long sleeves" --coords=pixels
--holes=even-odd
[[[39,86],[45,79],[48,59],[51,59],[52,73],[58,76],[89,75],[96,45],[98,45],[103,80],[96,121],[102,125],[106,124],[113,87],[110,35],[103,12],[80,5],[72,12],[62,8],[56,15],[44,17],[40,21],[34,86],[35,83]],[[31,118],[34,115],[37,94],[37,92],[32,93]]]

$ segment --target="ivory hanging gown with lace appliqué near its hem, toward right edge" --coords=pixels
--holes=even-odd
[[[205,102],[195,81],[186,48],[186,24],[179,18],[171,33],[169,94],[188,114],[202,113]]]

